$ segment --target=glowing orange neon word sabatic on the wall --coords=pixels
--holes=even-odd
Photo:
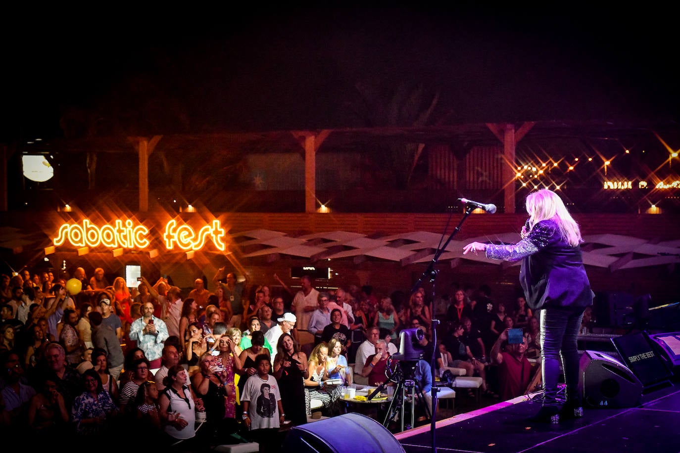
[[[103,225],[101,228],[88,219],[82,221],[82,225],[64,223],[59,227],[59,232],[54,238],[54,245],[62,245],[67,240],[75,247],[97,247],[99,244],[105,247],[118,249],[144,249],[148,247],[149,240],[146,238],[149,229],[144,225],[134,225],[133,221],[116,220],[114,225]]]

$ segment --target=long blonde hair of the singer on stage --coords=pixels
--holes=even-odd
[[[526,212],[531,216],[529,218],[531,228],[541,220],[550,219],[558,224],[562,238],[566,239],[569,245],[576,247],[583,242],[579,224],[571,217],[562,198],[555,192],[541,189],[529,194],[526,197]]]

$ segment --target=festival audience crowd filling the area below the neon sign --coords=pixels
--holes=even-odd
[[[78,268],[73,276],[82,289],[71,294],[67,281],[43,274],[3,276],[0,403],[7,432],[89,441],[122,429],[158,434],[174,448],[254,439],[275,451],[279,428],[307,422],[312,399],[335,416],[347,410],[343,386],[362,378],[391,385],[387,359],[398,352],[403,329],[424,331],[424,362],[436,350],[438,375],[464,368],[494,397],[524,393],[535,363],[518,377],[511,365],[539,357],[537,321],[526,301],[494,302],[486,286],[461,287],[453,300],[437,301],[445,316],[434,345],[422,289],[319,291],[303,276],[293,291],[274,276],[279,285],[271,291],[223,269],[214,291],[204,278],[191,291],[167,278],[154,285],[141,278],[130,288],[120,277],[108,285],[101,268],[90,279]],[[507,348],[513,325],[524,327],[525,342]],[[301,344],[303,331],[313,342]],[[490,369],[498,369],[493,380]],[[142,429],[132,429],[137,424]]]

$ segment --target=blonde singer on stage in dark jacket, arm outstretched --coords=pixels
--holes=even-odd
[[[522,260],[520,283],[526,302],[539,312],[541,324],[541,372],[543,407],[535,421],[558,423],[562,418],[583,416],[579,381],[577,335],[583,310],[591,306],[594,293],[585,274],[579,225],[562,199],[548,189],[526,197],[527,225],[516,244],[471,242],[463,254],[481,251],[486,257],[507,261]],[[564,367],[566,403],[560,410],[557,401],[560,357]]]

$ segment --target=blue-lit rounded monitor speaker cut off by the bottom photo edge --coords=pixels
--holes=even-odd
[[[379,453],[405,452],[401,443],[373,418],[350,412],[292,427],[284,440],[284,452]]]

